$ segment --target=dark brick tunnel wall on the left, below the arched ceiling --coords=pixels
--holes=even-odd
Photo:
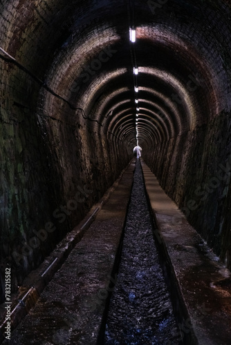
[[[131,154],[9,59],[1,60],[1,300],[72,230],[127,166]],[[52,100],[51,100],[52,99]],[[120,155],[119,155],[120,152]],[[103,173],[102,173],[103,172]]]

